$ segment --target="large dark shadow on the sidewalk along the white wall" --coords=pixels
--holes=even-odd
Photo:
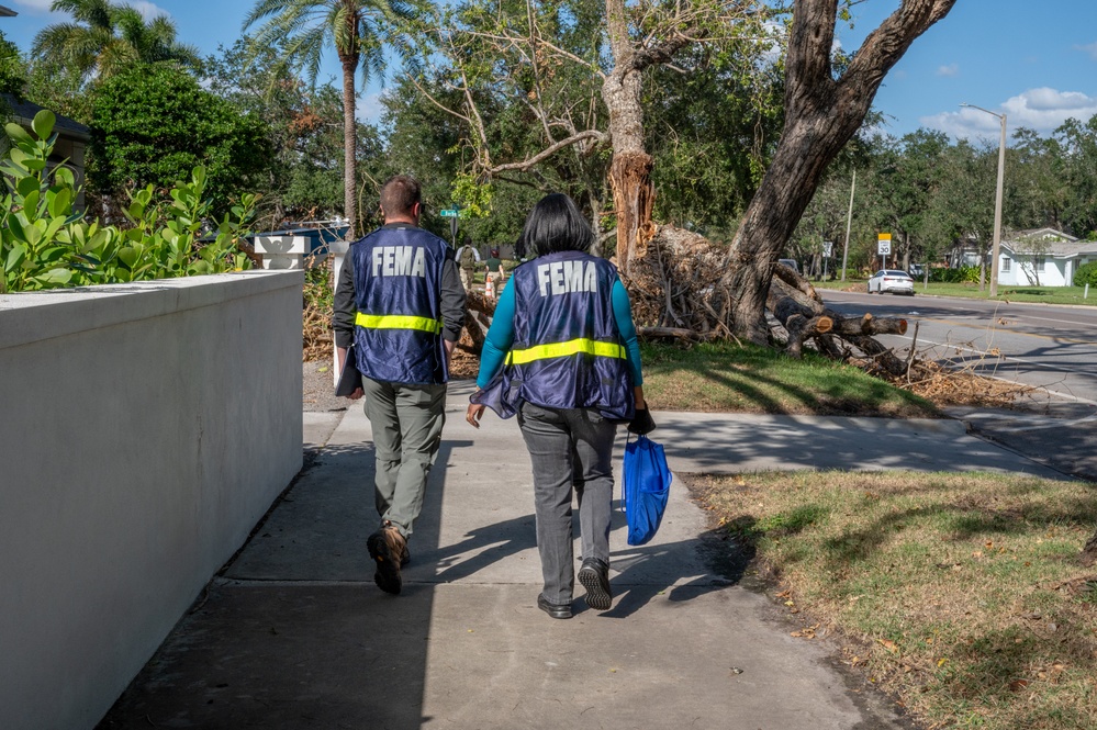
[[[462,443],[444,440],[439,463]],[[426,552],[438,546],[445,476],[430,474],[433,516],[412,543]],[[391,596],[373,584],[372,480],[369,443],[320,450],[97,730],[413,730],[432,719],[435,591],[412,581]]]

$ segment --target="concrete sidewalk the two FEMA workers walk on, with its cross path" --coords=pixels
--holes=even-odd
[[[305,414],[322,447],[100,728],[909,727],[824,641],[710,564],[681,483],[657,538],[611,537],[614,607],[537,609],[529,460],[514,420],[448,423],[400,596],[372,581],[373,456],[360,405]],[[1061,476],[959,422],[656,414],[680,473],[857,468]],[[624,430],[620,437],[624,443]],[[619,458],[622,449],[616,453]],[[578,528],[577,528],[578,529]]]

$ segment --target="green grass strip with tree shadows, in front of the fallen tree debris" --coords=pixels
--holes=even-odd
[[[643,394],[653,408],[799,415],[936,417],[928,401],[814,352],[794,360],[757,346],[683,349],[642,342]]]

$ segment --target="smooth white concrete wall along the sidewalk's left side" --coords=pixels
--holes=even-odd
[[[0,728],[93,728],[300,470],[301,285],[0,295]]]

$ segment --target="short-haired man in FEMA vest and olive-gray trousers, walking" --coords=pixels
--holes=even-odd
[[[350,397],[366,396],[381,515],[366,547],[377,563],[373,581],[392,594],[400,593],[407,538],[441,443],[449,357],[464,323],[454,250],[418,227],[421,195],[408,176],[384,183],[384,225],[350,245],[333,317],[340,370],[354,345],[362,373],[362,388]]]

